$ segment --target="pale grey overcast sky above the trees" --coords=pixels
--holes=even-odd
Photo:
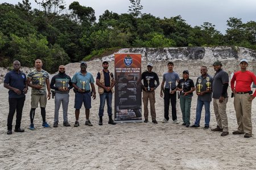
[[[40,0],[38,0],[40,1]],[[42,0],[41,0],[42,1]],[[74,0],[65,0],[66,7]],[[131,5],[129,0],[76,0],[82,6],[89,6],[95,10],[95,15],[103,14],[105,10],[118,14],[127,13]],[[0,3],[17,4],[22,0],[0,0]],[[31,6],[40,8],[34,0]],[[241,18],[243,23],[256,21],[255,0],[141,0],[142,13],[152,14],[159,18],[170,18],[181,15],[186,23],[195,27],[204,22],[216,25],[216,29],[225,33],[226,20],[230,17]]]

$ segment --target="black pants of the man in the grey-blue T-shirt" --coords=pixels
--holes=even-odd
[[[177,119],[176,113],[176,92],[174,94],[170,94],[170,90],[168,88],[164,88],[164,118],[169,120],[169,107],[170,107],[170,100],[172,105],[172,120]]]

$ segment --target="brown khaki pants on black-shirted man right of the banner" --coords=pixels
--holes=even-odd
[[[143,91],[143,104],[144,104],[144,117],[147,119],[148,118],[148,99],[150,100],[150,113],[152,120],[156,120],[156,113],[155,113],[155,91],[152,92],[147,92]]]

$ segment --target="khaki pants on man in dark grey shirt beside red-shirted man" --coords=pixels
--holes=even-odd
[[[223,129],[223,131],[229,131],[228,129],[228,116],[226,115],[226,103],[228,98],[225,98],[222,103],[218,99],[213,99],[213,109],[216,116],[217,125]]]

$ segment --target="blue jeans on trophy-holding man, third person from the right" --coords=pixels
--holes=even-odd
[[[202,113],[203,106],[205,109],[205,117],[204,117],[205,126],[209,126],[210,124],[210,101],[197,100],[196,121],[195,121],[196,126],[200,126],[201,113]]]

